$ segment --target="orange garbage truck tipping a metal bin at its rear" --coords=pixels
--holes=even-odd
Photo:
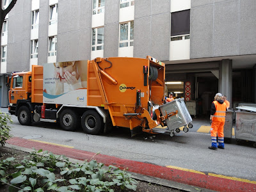
[[[9,112],[22,125],[60,122],[65,131],[81,126],[87,134],[117,126],[129,128],[132,136],[141,131],[173,136],[180,124],[172,122],[180,119],[184,131],[191,127],[191,117],[179,115],[183,109],[163,104],[165,65],[150,56],[32,65],[31,72],[13,72],[9,86]]]

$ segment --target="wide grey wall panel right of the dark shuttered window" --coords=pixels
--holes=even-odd
[[[256,1],[191,1],[190,58],[256,53]]]

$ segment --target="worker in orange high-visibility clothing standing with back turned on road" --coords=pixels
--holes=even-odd
[[[221,93],[217,93],[214,97],[214,101],[211,106],[211,138],[212,146],[209,147],[212,150],[217,150],[218,148],[224,149],[224,124],[226,117],[227,105],[222,100]],[[217,134],[218,143],[217,145]]]

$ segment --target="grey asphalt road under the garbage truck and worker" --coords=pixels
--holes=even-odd
[[[109,134],[93,136],[83,131],[63,131],[54,123],[33,123],[22,126],[12,115],[12,134],[15,137],[68,145],[108,156],[131,159],[160,166],[177,166],[204,173],[256,180],[256,148],[236,145],[233,140],[225,150],[209,150],[211,135],[200,132],[140,134],[131,138],[129,129],[117,128]]]

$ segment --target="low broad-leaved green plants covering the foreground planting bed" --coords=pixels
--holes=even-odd
[[[6,174],[13,160],[4,160],[1,164],[4,172],[0,171],[4,183],[10,181],[9,191],[136,191],[136,180],[129,173],[115,166],[105,168],[95,160],[73,164],[65,156],[35,150],[20,163],[13,164],[15,172]]]

